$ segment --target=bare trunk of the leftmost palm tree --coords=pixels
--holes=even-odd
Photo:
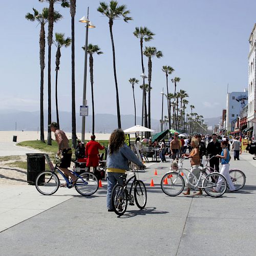
[[[44,133],[44,69],[45,69],[45,26],[41,24],[39,45],[40,45],[40,141],[45,142]]]

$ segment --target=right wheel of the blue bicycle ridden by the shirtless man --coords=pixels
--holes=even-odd
[[[97,177],[90,172],[85,172],[79,175],[75,183],[76,191],[82,196],[91,196],[99,188],[99,181]]]

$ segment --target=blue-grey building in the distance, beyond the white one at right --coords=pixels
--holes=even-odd
[[[232,132],[231,123],[237,120],[240,116],[240,112],[247,104],[248,90],[244,92],[231,92],[227,94],[227,112],[226,120],[223,121],[223,133],[228,134]],[[225,125],[224,125],[225,123]]]

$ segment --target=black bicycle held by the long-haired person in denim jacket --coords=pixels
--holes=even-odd
[[[127,204],[129,201],[129,205],[134,205],[134,201],[136,205],[143,209],[146,205],[147,194],[146,194],[146,187],[143,181],[138,180],[136,177],[135,169],[133,170],[134,175],[126,181],[127,175],[121,175],[120,178],[123,179],[124,185],[116,184],[113,187],[111,193],[111,202],[112,207],[115,213],[119,216],[122,216],[127,209]],[[127,185],[132,180],[132,185],[130,190],[128,191]],[[132,190],[134,187],[134,196],[132,195]]]

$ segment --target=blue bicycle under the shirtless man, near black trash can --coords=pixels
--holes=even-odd
[[[44,172],[41,172],[37,175],[35,187],[38,192],[42,195],[48,196],[56,193],[60,185],[59,177],[57,174],[61,175],[63,179],[65,179],[68,188],[72,188],[73,180],[67,178],[65,174],[59,169],[59,161],[57,161],[55,167],[53,167],[53,164],[47,154],[45,154],[45,158],[50,167],[50,170],[45,170]],[[78,178],[74,184],[74,187],[80,195],[91,196],[98,190],[99,182],[93,173],[84,172],[78,175],[75,172],[75,169],[70,170],[70,172]]]

